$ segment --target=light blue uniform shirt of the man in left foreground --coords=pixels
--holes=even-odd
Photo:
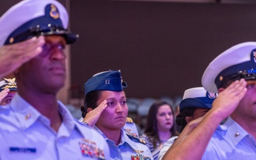
[[[61,102],[63,122],[56,133],[50,120],[16,94],[0,107],[0,159],[109,159],[110,150],[94,129],[76,122]]]

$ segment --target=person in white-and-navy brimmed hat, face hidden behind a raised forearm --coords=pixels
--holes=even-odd
[[[186,125],[194,119],[203,117],[212,107],[213,100],[217,97],[216,93],[207,92],[203,87],[193,87],[185,90],[183,100],[179,107],[181,113],[176,117],[176,124],[181,126],[181,132]],[[174,144],[175,139],[172,137],[161,149],[158,159],[162,159],[166,151]]]

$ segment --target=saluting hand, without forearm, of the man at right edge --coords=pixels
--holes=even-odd
[[[213,101],[212,110],[219,112],[223,119],[228,117],[238,107],[242,97],[245,96],[247,92],[246,84],[247,82],[244,79],[235,80],[225,90],[220,91],[218,97]]]

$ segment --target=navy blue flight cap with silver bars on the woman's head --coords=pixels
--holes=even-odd
[[[94,90],[121,92],[124,87],[127,87],[127,82],[122,80],[120,70],[97,73],[87,80],[84,85],[85,95]]]

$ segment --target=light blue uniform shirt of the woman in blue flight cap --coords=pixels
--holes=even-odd
[[[102,136],[105,138],[105,141],[109,145],[110,159],[129,160],[132,159],[132,156],[134,156],[134,159],[137,157],[141,158],[138,160],[153,159],[149,148],[145,144],[139,142],[139,139],[136,137],[130,139],[127,134],[125,134],[123,129],[121,129],[121,142],[118,144],[118,146],[116,146],[112,140],[107,139],[105,134],[103,134],[99,128],[96,126],[94,128],[97,130],[97,132],[102,134]]]

